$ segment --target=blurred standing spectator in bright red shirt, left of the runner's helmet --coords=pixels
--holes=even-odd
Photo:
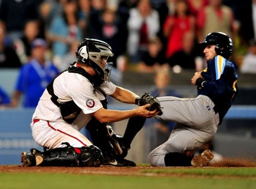
[[[163,32],[168,41],[166,58],[183,48],[182,38],[185,32],[195,31],[195,18],[188,12],[188,4],[185,0],[178,0],[175,6],[175,14],[166,17]]]

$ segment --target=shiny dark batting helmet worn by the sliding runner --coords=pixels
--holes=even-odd
[[[203,42],[199,43],[199,45],[205,48],[208,44],[216,45],[215,51],[216,54],[223,56],[228,59],[233,53],[233,41],[227,36],[227,34],[223,32],[212,32],[209,33]]]

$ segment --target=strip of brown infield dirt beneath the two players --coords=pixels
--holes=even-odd
[[[218,163],[211,163],[209,167],[256,167],[256,161],[239,160],[239,159],[224,159]],[[170,167],[151,167],[151,166],[136,166],[136,167],[22,167],[17,165],[2,165],[0,172],[55,172],[55,173],[76,173],[76,174],[102,174],[102,175],[147,175],[143,170],[147,169],[165,169]],[[193,167],[180,167],[193,168]]]

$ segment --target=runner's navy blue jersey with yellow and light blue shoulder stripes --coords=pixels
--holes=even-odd
[[[208,62],[201,76],[205,82],[203,87],[198,87],[198,95],[208,96],[214,102],[214,110],[219,113],[221,123],[237,92],[238,76],[234,64],[222,56],[216,56]]]

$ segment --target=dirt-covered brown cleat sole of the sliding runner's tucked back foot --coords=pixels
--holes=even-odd
[[[209,162],[213,160],[214,155],[210,150],[205,150],[201,155],[196,155],[191,161],[193,167],[205,167],[209,165]]]

